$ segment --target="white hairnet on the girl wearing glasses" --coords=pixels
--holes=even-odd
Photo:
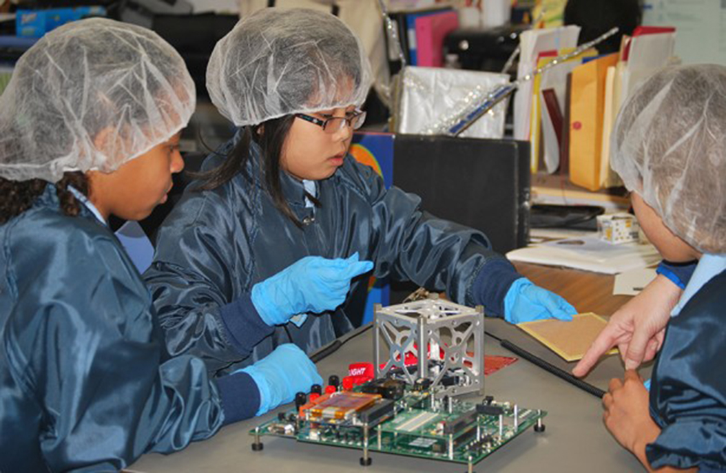
[[[212,102],[237,126],[360,106],[370,84],[359,38],[335,16],[312,9],[266,8],[240,20],[207,66]]]

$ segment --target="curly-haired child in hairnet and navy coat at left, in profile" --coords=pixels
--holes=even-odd
[[[134,25],[73,22],[17,62],[0,97],[0,472],[121,469],[253,416],[261,390],[274,404],[322,381],[295,345],[250,367],[264,387],[166,353],[107,219],[166,200],[194,108],[179,54]]]

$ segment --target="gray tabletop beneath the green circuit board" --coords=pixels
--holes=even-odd
[[[570,371],[566,363],[521,330],[499,319],[486,319],[486,330],[505,338]],[[486,337],[488,355],[513,356],[492,337]],[[343,377],[348,363],[370,361],[372,330],[346,342],[333,355],[317,363],[324,379],[330,374]],[[640,371],[646,377],[650,367]],[[605,358],[587,377],[587,382],[607,390],[612,377],[622,377],[623,369],[616,355]],[[497,400],[509,400],[525,408],[548,412],[546,430],[529,429],[499,451],[475,466],[481,472],[631,472],[643,471],[634,456],[625,451],[605,430],[600,399],[568,384],[526,360],[486,377],[485,392]],[[476,400],[477,398],[471,398]],[[285,406],[284,409],[289,408]],[[371,454],[372,466],[359,466],[360,452],[346,448],[298,443],[278,437],[263,437],[264,451],[250,449],[248,435],[262,421],[277,414],[280,408],[256,419],[249,419],[221,429],[214,437],[192,443],[184,451],[163,456],[150,453],[130,466],[134,472],[465,472],[466,466],[444,461]]]

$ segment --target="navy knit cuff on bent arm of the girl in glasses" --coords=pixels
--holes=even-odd
[[[237,353],[246,358],[252,353],[252,348],[264,337],[274,332],[274,327],[262,321],[250,295],[244,295],[219,309],[227,333],[231,335],[229,341],[234,345]]]

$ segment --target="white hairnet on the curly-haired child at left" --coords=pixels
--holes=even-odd
[[[0,176],[111,172],[184,128],[195,100],[184,61],[156,33],[69,23],[20,57],[0,96]]]

